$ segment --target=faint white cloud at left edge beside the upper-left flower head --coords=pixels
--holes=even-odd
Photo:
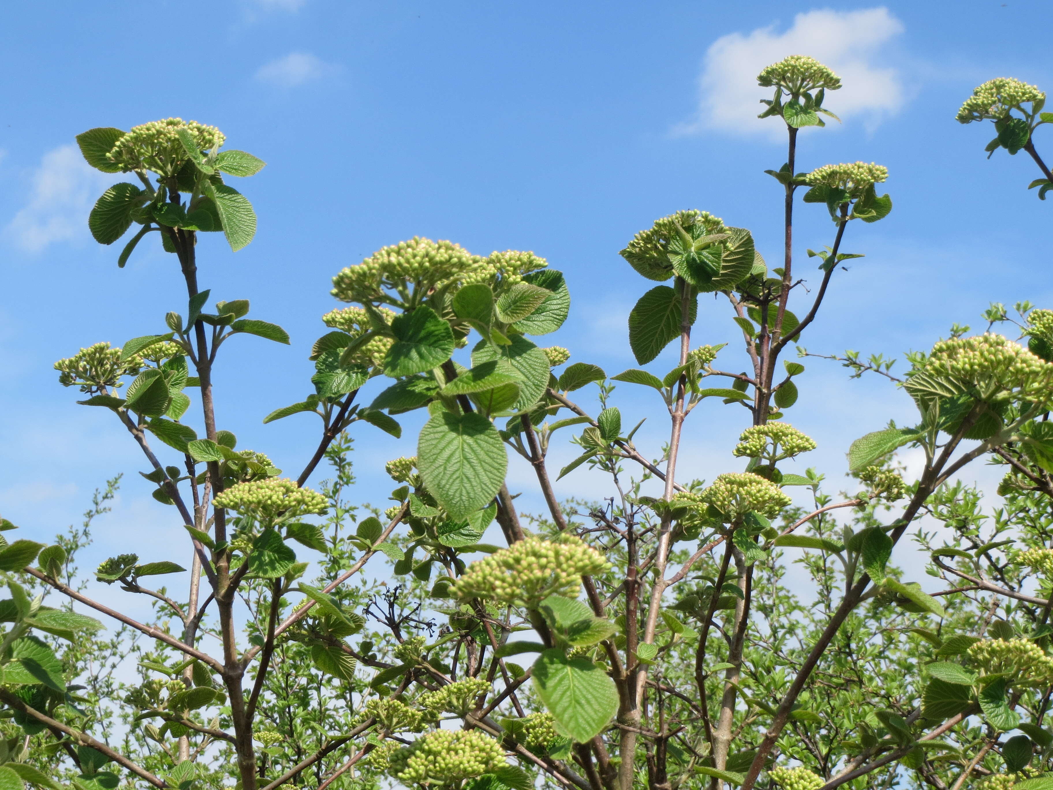
[[[56,241],[87,234],[87,214],[114,177],[92,167],[76,145],[44,154],[33,174],[29,202],[4,229],[7,237],[29,253]]]

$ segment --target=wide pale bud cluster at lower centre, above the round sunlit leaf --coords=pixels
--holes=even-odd
[[[478,597],[533,606],[550,595],[577,597],[582,574],[608,568],[603,555],[580,538],[529,537],[470,565],[452,592],[462,600]]]

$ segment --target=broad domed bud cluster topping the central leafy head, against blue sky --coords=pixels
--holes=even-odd
[[[333,278],[331,293],[341,301],[366,301],[380,298],[381,289],[404,287],[408,282],[424,290],[441,289],[463,282],[484,265],[483,258],[460,244],[414,236],[341,270]]]

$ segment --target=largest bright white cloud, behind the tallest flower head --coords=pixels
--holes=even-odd
[[[899,73],[885,65],[882,48],[903,32],[903,24],[888,8],[853,12],[810,11],[794,17],[793,26],[758,27],[749,35],[732,33],[718,38],[706,53],[699,78],[697,118],[680,124],[678,134],[704,129],[781,136],[781,123],[757,120],[760,99],[771,98],[759,87],[760,71],[788,55],[810,55],[841,78],[842,87],[823,102],[842,119],[865,116],[875,122],[902,106],[905,90]],[[830,122],[830,121],[828,121]],[[836,123],[836,121],[835,121]]]

